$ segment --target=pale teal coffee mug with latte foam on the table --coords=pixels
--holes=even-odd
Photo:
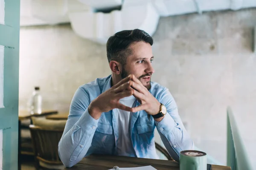
[[[198,150],[180,152],[180,170],[207,170],[207,155]]]

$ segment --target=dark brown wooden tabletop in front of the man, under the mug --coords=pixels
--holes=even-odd
[[[82,159],[78,164],[63,170],[109,170],[118,167],[142,167],[151,165],[157,170],[179,170],[179,163],[159,159],[144,159],[127,156],[90,155]],[[231,170],[230,167],[212,165],[211,170]]]

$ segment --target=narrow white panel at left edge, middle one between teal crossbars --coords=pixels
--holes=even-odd
[[[4,46],[0,45],[0,108],[4,108],[4,105],[3,105],[3,58],[4,58]]]

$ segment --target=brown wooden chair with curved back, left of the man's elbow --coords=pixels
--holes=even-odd
[[[46,129],[29,125],[35,156],[35,168],[62,169],[58,156],[58,142],[64,129]]]

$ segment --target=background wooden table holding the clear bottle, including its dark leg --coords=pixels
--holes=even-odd
[[[19,110],[19,121],[18,121],[18,170],[21,169],[20,167],[20,159],[21,159],[21,121],[22,120],[26,120],[26,119],[31,119],[32,116],[35,117],[40,117],[40,116],[47,116],[47,115],[51,115],[51,114],[57,114],[58,111],[54,111],[54,110],[43,110],[41,114],[38,113],[34,113],[34,114],[30,114],[28,111],[26,110]]]

